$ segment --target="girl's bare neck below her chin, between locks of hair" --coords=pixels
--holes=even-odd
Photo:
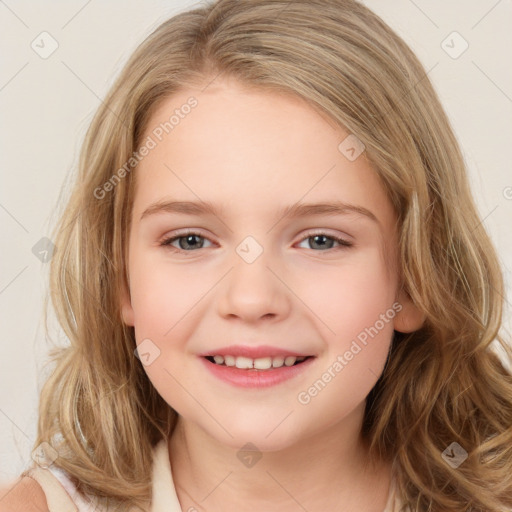
[[[363,413],[364,404],[327,431],[257,453],[261,458],[246,464],[239,449],[179,417],[169,456],[182,509],[382,512],[391,471],[389,464],[369,461],[360,435]]]

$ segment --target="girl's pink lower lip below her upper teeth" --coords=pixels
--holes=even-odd
[[[224,366],[212,363],[201,357],[203,364],[215,377],[241,388],[266,388],[275,386],[305,371],[315,359],[309,357],[294,366],[281,366],[273,370],[243,370],[236,366]]]

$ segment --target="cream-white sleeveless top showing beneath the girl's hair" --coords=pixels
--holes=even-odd
[[[91,502],[82,498],[66,472],[60,468],[35,467],[26,474],[41,485],[46,495],[49,512],[108,512],[95,507]],[[182,512],[172,479],[167,442],[164,439],[153,449],[152,482],[153,499],[149,512]],[[393,482],[383,512],[395,512],[398,507],[399,503],[395,497]]]

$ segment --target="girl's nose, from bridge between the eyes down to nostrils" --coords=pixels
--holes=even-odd
[[[252,321],[285,315],[289,297],[273,267],[279,268],[279,263],[272,259],[272,251],[252,236],[244,238],[235,248],[232,270],[221,287],[219,314]]]

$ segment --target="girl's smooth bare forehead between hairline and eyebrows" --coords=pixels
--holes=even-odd
[[[181,90],[148,122],[143,141],[154,147],[136,168],[134,215],[171,196],[260,215],[296,202],[344,201],[390,220],[365,153],[350,160],[340,150],[348,135],[297,96],[234,81]]]

